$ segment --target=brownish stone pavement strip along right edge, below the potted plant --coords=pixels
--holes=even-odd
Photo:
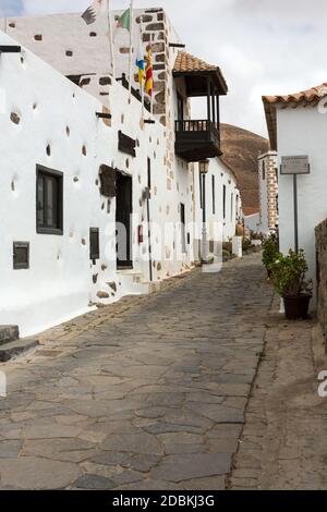
[[[266,334],[228,488],[327,489],[327,399],[318,395],[314,320],[287,321],[276,312]],[[319,369],[327,358],[319,357]]]

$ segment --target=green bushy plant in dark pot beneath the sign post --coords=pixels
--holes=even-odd
[[[307,263],[304,251],[290,249],[270,265],[271,281],[277,293],[283,298],[286,317],[289,320],[307,318],[312,298],[312,281],[306,280]]]

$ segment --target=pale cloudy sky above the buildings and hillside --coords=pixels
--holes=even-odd
[[[0,16],[82,11],[90,0],[0,0]],[[124,9],[129,0],[111,0]],[[327,82],[326,0],[134,0],[164,7],[187,50],[220,65],[221,120],[266,135],[263,94]]]

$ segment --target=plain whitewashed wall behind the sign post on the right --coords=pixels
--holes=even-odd
[[[311,174],[298,178],[299,245],[306,253],[310,278],[315,281],[315,227],[327,218],[327,115],[317,108],[277,111],[278,155],[307,155]],[[293,179],[279,176],[279,232],[283,253],[294,248]]]

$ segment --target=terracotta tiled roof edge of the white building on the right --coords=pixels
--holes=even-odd
[[[263,96],[265,107],[266,121],[269,132],[271,149],[277,150],[277,106],[281,108],[301,107],[317,105],[322,98],[327,96],[327,82],[311,89],[301,90],[300,93],[280,95],[280,96]]]

